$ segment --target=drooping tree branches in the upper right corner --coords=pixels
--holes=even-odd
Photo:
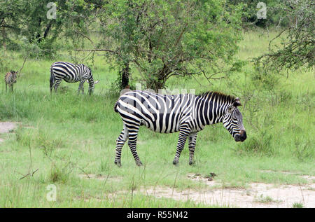
[[[286,1],[274,7],[279,15],[287,16],[291,22],[288,27],[274,38],[278,39],[283,35],[281,47],[273,44],[274,39],[269,43],[269,52],[255,59],[258,67],[262,65],[265,69],[298,69],[306,66],[314,68],[314,13],[315,3],[310,0]]]

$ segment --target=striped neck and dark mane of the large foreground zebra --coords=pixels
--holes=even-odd
[[[223,122],[223,117],[234,97],[220,92],[206,92],[196,99],[197,115],[202,125],[212,125]]]

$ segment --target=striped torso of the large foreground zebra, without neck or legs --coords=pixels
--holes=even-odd
[[[134,90],[121,95],[114,106],[126,124],[146,125],[160,133],[178,132],[193,119],[195,95],[161,95]]]

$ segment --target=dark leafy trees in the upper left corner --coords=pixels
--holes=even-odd
[[[48,18],[50,0],[6,0],[0,2],[0,41],[13,38],[27,39],[37,44],[42,53],[55,51],[54,43],[57,36],[64,34],[76,39],[77,35],[85,36],[88,24],[85,18],[93,15],[94,1],[56,0],[56,18]],[[95,0],[95,2],[98,2]],[[96,7],[95,7],[96,8]],[[85,32],[76,32],[83,30]],[[10,32],[8,39],[7,33]]]

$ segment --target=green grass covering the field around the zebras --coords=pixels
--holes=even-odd
[[[267,52],[268,39],[274,35],[244,34],[237,56],[249,61]],[[18,55],[6,53],[8,63],[1,73],[20,68]],[[144,167],[135,165],[126,144],[118,168],[113,162],[123,124],[113,111],[118,95],[110,91],[117,71],[110,69],[104,57],[95,56],[93,73],[100,83],[94,95],[88,96],[85,90],[85,95],[77,96],[78,84],[62,83],[69,89],[50,96],[50,64],[71,59],[60,52],[55,60],[28,60],[14,93],[5,93],[1,84],[0,120],[20,122],[20,127],[0,134],[5,139],[0,144],[0,207],[223,207],[133,191],[155,186],[204,189],[204,183],[188,179],[188,173],[214,172],[214,180],[224,187],[241,188],[251,182],[304,184],[309,181],[299,174],[315,175],[311,71],[290,71],[288,78],[286,73],[257,76],[248,62],[241,72],[211,84],[202,76],[196,77],[202,85],[193,78],[170,79],[170,89],[219,90],[240,97],[248,139],[235,143],[223,125],[208,126],[198,134],[195,165],[188,165],[186,144],[179,166],[174,167],[179,134],[157,134],[142,127],[137,150]],[[266,169],[274,172],[263,172]],[[108,179],[81,179],[80,174],[101,174]],[[57,187],[56,202],[46,200],[49,184]]]

